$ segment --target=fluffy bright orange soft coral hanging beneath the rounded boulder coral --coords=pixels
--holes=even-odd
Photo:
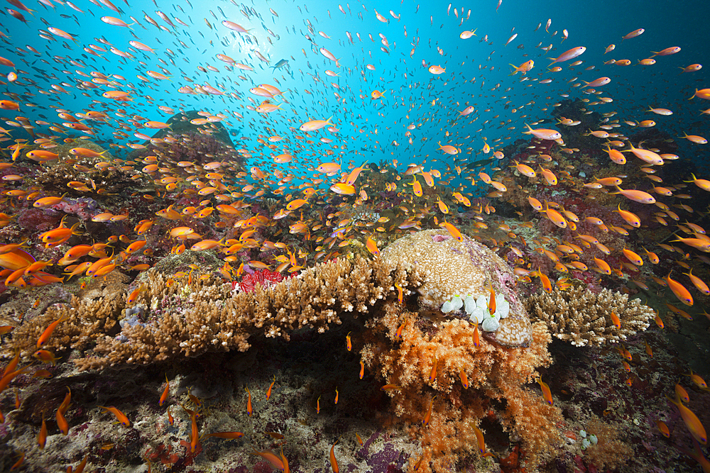
[[[421,458],[420,469],[425,472],[448,472],[457,464],[460,469],[479,452],[473,426],[483,419],[488,423],[491,417],[511,437],[523,439],[528,464],[548,460],[561,445],[555,427],[562,420],[559,408],[523,387],[537,377],[538,367],[551,363],[550,334],[544,324],[532,326],[527,348],[506,348],[486,340],[476,346],[474,327],[467,321],[435,323],[396,302],[384,309],[382,316],[368,321],[361,355],[383,383],[400,387],[391,391],[393,412],[408,423],[410,438],[420,440],[422,446],[422,454],[414,455],[411,465]],[[435,360],[437,370],[430,379]],[[462,386],[461,372],[466,374],[468,389]],[[431,421],[422,425],[430,404]],[[486,433],[483,424],[481,428]]]

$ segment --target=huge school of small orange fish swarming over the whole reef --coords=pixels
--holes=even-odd
[[[477,235],[515,265],[519,284],[532,291],[551,292],[555,286],[564,290],[571,279],[618,286],[628,282],[642,296],[662,296],[670,313],[688,319],[692,315],[677,304],[696,310],[708,300],[710,237],[704,226],[710,214],[693,204],[707,204],[703,193],[710,192],[710,180],[677,169],[674,161],[681,160],[682,153],[632,143],[628,135],[647,128],[677,131],[672,121],[692,113],[702,127],[680,130],[673,138],[682,143],[679,149],[705,152],[702,133],[710,108],[701,108],[710,101],[710,83],[698,84],[684,104],[655,97],[648,109],[623,104],[623,96],[605,95],[605,87],[622,80],[626,71],[664,67],[665,60],[682,52],[679,46],[669,46],[649,50],[647,57],[624,59],[624,48],[650,34],[643,28],[610,37],[613,43],[608,45],[569,45],[565,41],[571,42],[574,32],[565,28],[557,34],[550,28],[552,18],[534,31],[513,28],[501,35],[477,23],[471,9],[440,4],[427,17],[432,28],[435,22],[445,23],[456,42],[478,41],[494,48],[487,59],[457,62],[449,48],[458,43],[437,42],[434,47],[431,39],[420,37],[419,28],[407,29],[407,21],[422,21],[420,5],[378,12],[373,4],[345,3],[336,9],[334,3],[331,9],[320,7],[317,15],[308,11],[309,5],[295,6],[302,18],[296,25],[273,3],[248,6],[231,0],[206,9],[191,0],[153,0],[153,12],[147,11],[148,1],[141,6],[131,6],[128,0],[125,6],[110,0],[38,0],[39,6],[6,1],[0,27],[0,228],[12,231],[1,234],[0,277],[8,291],[50,284],[84,289],[89,279],[118,270],[135,276],[160,257],[186,250],[214,252],[223,262],[217,272],[236,282],[245,272],[299,272],[350,248],[363,247],[376,256],[378,240],[441,226],[459,240],[462,232]],[[495,7],[485,8],[504,14],[503,3],[498,0]],[[352,32],[318,30],[319,16],[345,19]],[[287,38],[291,48],[301,48],[301,55],[283,54],[286,59],[276,53]],[[525,40],[525,45],[513,50],[516,40]],[[527,43],[533,42],[539,43],[530,48]],[[525,47],[529,52],[523,53]],[[498,60],[501,50],[504,59]],[[584,60],[592,50],[594,58],[603,56],[601,62]],[[612,52],[621,59],[613,59]],[[694,62],[699,58],[683,59],[682,70],[675,72],[684,77],[701,71],[702,65]],[[478,62],[476,67],[466,65],[470,79],[461,78],[466,62]],[[510,76],[486,84],[487,69],[492,73],[508,65]],[[474,71],[481,75],[475,77]],[[394,79],[404,83],[395,87]],[[478,87],[477,96],[473,87]],[[577,117],[550,121],[555,108],[574,99],[583,107],[582,115],[599,116],[596,129],[576,128],[581,124]],[[200,118],[190,123],[202,135],[239,128],[231,133],[236,144],[193,160],[175,157],[171,146],[189,147],[191,138],[173,132],[168,118],[190,109],[197,110]],[[588,150],[567,144],[579,136],[608,157],[608,169],[616,172],[589,177],[580,172],[599,165],[590,162]],[[87,141],[104,151],[87,148]],[[515,143],[514,159],[506,154]],[[55,152],[63,145],[70,146],[69,155]],[[65,192],[33,184],[38,174],[58,165],[71,167],[78,176]],[[674,170],[665,172],[669,167]],[[140,180],[150,190],[111,197],[101,180],[109,172]],[[574,208],[561,204],[564,193],[576,199]],[[557,195],[562,196],[553,199]],[[79,197],[95,199],[99,209],[86,219],[62,210]],[[271,213],[263,210],[266,199],[276,202]],[[121,200],[140,204],[118,204]],[[589,211],[606,205],[596,201],[615,204],[603,212]],[[497,216],[496,206],[513,210],[504,218]],[[140,208],[155,211],[141,213]],[[18,220],[28,209],[60,216],[51,228],[21,228]],[[95,240],[87,230],[89,222],[104,226],[111,235]],[[527,241],[524,234],[537,226],[549,232]],[[640,245],[636,232],[650,226],[665,232],[664,238],[654,246]],[[608,234],[622,243],[600,243],[600,236]],[[262,260],[261,252],[271,256]],[[656,265],[664,267],[665,274],[657,272]],[[200,274],[194,266],[176,272],[173,280],[194,277],[209,274]],[[79,278],[83,282],[77,287]],[[143,289],[133,289],[127,304]],[[403,290],[397,289],[401,302]],[[492,289],[491,301],[495,311]],[[35,304],[40,304],[39,298]],[[661,315],[656,316],[659,329],[664,327]],[[704,315],[710,320],[707,311]],[[617,327],[623,325],[616,313],[610,317]],[[38,362],[58,362],[43,345],[62,322],[48,325],[38,338],[33,354]],[[12,330],[13,325],[0,326],[6,337]],[[652,357],[648,343],[645,346]],[[350,334],[346,349],[351,350]],[[623,345],[617,350],[621,369],[630,372],[630,353]],[[4,368],[0,393],[8,393],[13,380],[33,367],[18,367],[21,361],[17,353]],[[436,370],[434,360],[430,378],[436,377]],[[52,374],[39,369],[34,376]],[[633,376],[628,375],[629,386]],[[359,377],[364,377],[362,362]],[[688,378],[691,386],[707,390],[699,374],[690,370]],[[275,382],[274,377],[266,401]],[[542,379],[536,382],[545,401],[553,404],[557,393]],[[468,388],[464,372],[461,384]],[[169,387],[166,376],[161,408]],[[72,427],[65,420],[72,406],[72,391],[67,390],[55,412],[63,435]],[[382,390],[396,395],[398,386]],[[22,401],[20,392],[16,388],[15,408]],[[245,392],[251,416],[248,386]],[[338,396],[336,388],[335,404]],[[422,413],[424,426],[436,397]],[[320,413],[320,399],[315,413]],[[706,431],[685,405],[690,397],[680,382],[668,399],[692,435],[694,450],[687,455],[710,472],[701,450]],[[192,394],[188,401],[192,408],[180,407],[190,423],[191,435],[184,443],[190,455],[198,455],[207,438],[244,436],[236,431],[200,434],[202,401]],[[114,416],[119,425],[140,421],[114,406],[94,407]],[[4,420],[1,413],[0,418]],[[662,435],[671,435],[665,423],[656,422]],[[484,433],[474,429],[479,452],[491,455]],[[43,449],[48,435],[44,419],[37,435],[38,448]],[[339,440],[331,440],[329,452],[335,473]],[[253,454],[275,469],[290,471],[283,447],[278,453]],[[32,452],[22,452],[11,469],[21,469],[28,455]],[[67,471],[82,472],[87,458]],[[150,471],[147,453],[146,462]],[[419,467],[415,464],[414,470]]]

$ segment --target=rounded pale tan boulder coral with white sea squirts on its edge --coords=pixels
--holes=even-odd
[[[462,236],[458,241],[447,230],[423,230],[386,247],[383,262],[418,274],[422,306],[465,313],[472,323],[481,324],[487,338],[501,345],[528,345],[532,328],[515,292],[513,270],[487,247]],[[493,304],[486,304],[490,287],[496,294],[494,310]]]

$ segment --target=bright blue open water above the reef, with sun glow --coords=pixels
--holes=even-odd
[[[61,123],[50,107],[72,113],[106,110],[112,118],[118,118],[113,113],[123,108],[128,116],[139,115],[151,121],[166,121],[173,114],[160,111],[158,106],[174,108],[175,113],[179,109],[224,113],[228,117],[227,128],[235,131],[236,138],[244,138],[239,143],[255,156],[254,162],[247,165],[260,165],[263,157],[259,154],[264,152],[266,160],[271,162],[271,151],[266,149],[265,152],[265,148],[256,143],[258,135],[278,134],[291,138],[295,132],[290,127],[297,130],[307,120],[332,116],[339,132],[332,134],[322,129],[313,136],[330,138],[333,143],[326,145],[316,139],[303,149],[295,146],[302,141],[279,143],[285,145],[283,149],[295,151],[292,165],[297,165],[297,170],[307,172],[306,168],[311,165],[339,157],[344,168],[364,161],[397,160],[400,169],[409,163],[426,162],[443,171],[447,166],[486,157],[481,152],[484,143],[496,150],[511,140],[526,138],[522,134],[524,123],[549,120],[552,105],[564,98],[562,94],[594,101],[594,95],[584,94],[584,89],[572,86],[580,81],[610,77],[611,84],[598,90],[602,97],[611,98],[613,102],[591,106],[590,110],[617,111],[613,119],[653,119],[660,130],[672,136],[682,135],[684,131],[702,135],[706,128],[706,117],[699,111],[709,104],[700,99],[687,99],[694,89],[708,87],[708,69],[687,74],[681,74],[679,69],[704,62],[707,50],[704,22],[710,13],[710,4],[704,1],[667,4],[660,1],[503,0],[497,11],[495,0],[451,6],[434,1],[419,4],[351,1],[340,4],[346,13],[339,10],[337,1],[308,4],[191,2],[141,1],[129,6],[124,1],[116,1],[114,5],[124,11],[116,13],[107,6],[77,0],[75,6],[84,11],[79,13],[68,5],[55,4],[55,8],[50,9],[35,1],[26,4],[36,10],[34,16],[19,10],[26,24],[4,10],[2,30],[9,38],[4,38],[0,55],[15,62],[19,79],[14,84],[4,84],[3,88],[20,94],[23,106],[17,113],[1,111],[3,121],[20,115],[31,120]],[[5,6],[18,10],[9,3]],[[387,23],[378,20],[375,10]],[[167,14],[177,28],[163,21],[156,11]],[[390,11],[400,19],[393,18]],[[458,17],[454,13],[458,13]],[[163,29],[148,23],[144,18],[146,14]],[[133,24],[132,30],[110,26],[101,21],[102,16],[121,18],[126,23],[132,23],[129,16],[133,16],[138,24]],[[180,25],[175,18],[189,27]],[[546,32],[548,18],[551,24]],[[232,32],[222,25],[224,20],[239,23],[249,29],[250,34]],[[539,23],[542,26],[535,30]],[[55,35],[51,35],[53,40],[41,38],[40,30],[46,31],[48,26],[70,33],[76,43]],[[645,33],[622,42],[623,35],[637,28],[645,28]],[[462,31],[474,29],[476,36],[467,40],[459,38]],[[569,33],[564,41],[563,30]],[[329,38],[324,38],[320,32]],[[346,32],[351,34],[352,43]],[[518,36],[506,46],[508,38],[515,33]],[[388,46],[383,44],[382,36]],[[155,54],[132,48],[129,40],[145,43],[155,49]],[[105,43],[130,52],[135,59],[122,59],[111,52],[100,52],[103,58],[95,57],[82,50],[89,48],[89,44],[108,49]],[[615,44],[616,50],[604,55],[610,44]],[[542,50],[550,45],[550,52]],[[583,61],[581,65],[571,67],[569,63],[573,61],[568,61],[559,64],[561,72],[547,71],[548,58],[580,45],[587,48],[577,58]],[[28,46],[39,54],[28,50]],[[638,60],[650,57],[650,51],[671,46],[679,46],[682,51],[656,57],[657,63],[652,66],[636,65]],[[326,48],[339,58],[339,67],[324,57],[320,48]],[[268,63],[258,59],[256,52]],[[226,63],[217,59],[217,54],[228,55],[254,70],[229,71]],[[271,68],[282,59],[288,60],[288,67]],[[524,81],[521,74],[508,75],[509,64],[520,65],[530,59],[535,61],[535,67]],[[628,59],[632,65],[604,65],[609,59]],[[77,63],[71,64],[70,60]],[[374,70],[367,69],[366,65],[372,65]],[[444,67],[446,72],[431,74],[427,70],[431,65]],[[209,66],[219,72],[209,70]],[[590,66],[594,69],[586,70]],[[336,72],[338,77],[329,77],[325,73],[327,69]],[[170,80],[151,79],[146,83],[136,77],[138,74],[146,77],[148,70],[165,73]],[[3,66],[0,71],[5,75],[11,68]],[[102,93],[110,90],[105,86],[77,89],[78,81],[89,80],[77,71],[124,77],[125,80],[117,80],[118,89],[131,91],[133,101],[119,103],[104,99]],[[115,75],[113,78],[116,79]],[[552,82],[540,83],[547,78]],[[569,82],[574,78],[576,82]],[[205,83],[223,91],[224,95],[195,96],[178,92],[182,86]],[[273,84],[282,91],[288,89],[283,95],[288,103],[281,105],[282,110],[260,114],[246,108],[261,103],[263,99],[250,94],[249,89],[263,83]],[[60,85],[68,94],[54,91],[52,84]],[[384,92],[382,99],[370,98],[375,89]],[[281,103],[280,97],[273,103]],[[474,113],[454,121],[458,112],[469,105],[474,106]],[[646,113],[648,106],[670,108],[674,115]],[[237,113],[244,118],[238,118]],[[121,121],[127,123],[125,119]],[[415,125],[411,130],[411,145],[410,137],[405,135],[410,124]],[[126,131],[129,140],[119,140],[111,135],[116,129],[115,121],[105,125],[92,123],[92,126],[97,129],[99,140],[122,145],[142,143],[132,136],[136,131],[153,133],[153,130],[131,129]],[[46,126],[38,126],[35,131],[53,133]],[[13,133],[13,137],[20,136]],[[697,145],[680,141],[679,154],[695,155]],[[461,148],[456,163],[451,156],[437,151],[437,142]],[[332,157],[325,156],[324,152],[332,149],[332,145],[344,145],[345,149],[335,150]],[[119,152],[114,154],[120,156]],[[277,167],[285,169],[292,165]]]

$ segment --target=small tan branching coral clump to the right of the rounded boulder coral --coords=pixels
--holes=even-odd
[[[534,294],[525,305],[533,320],[544,321],[552,335],[578,347],[619,343],[646,330],[655,316],[638,299],[629,301],[628,294],[610,289],[595,294],[581,285]],[[611,312],[620,319],[621,328],[614,325]]]

